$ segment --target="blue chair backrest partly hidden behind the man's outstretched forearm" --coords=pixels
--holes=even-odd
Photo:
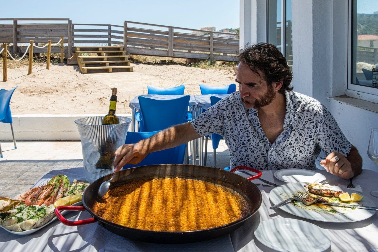
[[[159,131],[153,132],[127,132],[125,143],[136,143],[142,139],[148,138]],[[160,165],[160,164],[183,164],[185,157],[186,143],[174,148],[164,149],[163,151],[151,152],[140,163],[136,165],[126,164],[122,169],[143,166],[143,165]]]

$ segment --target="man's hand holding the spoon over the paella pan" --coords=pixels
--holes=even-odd
[[[138,142],[134,144],[122,145],[114,154],[114,171],[117,172],[127,163],[136,165],[137,163],[141,162],[148,153],[143,151],[141,143]]]

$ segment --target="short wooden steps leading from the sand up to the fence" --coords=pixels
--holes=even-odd
[[[133,72],[134,70],[123,47],[76,47],[75,55],[82,73],[90,73],[93,72],[91,70],[99,69],[108,73],[112,73],[113,69],[123,72]]]

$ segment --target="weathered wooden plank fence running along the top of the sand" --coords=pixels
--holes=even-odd
[[[124,46],[127,54],[236,61],[239,34],[125,21],[123,26],[72,23],[70,19],[0,19],[0,43],[13,44],[12,54],[26,50],[29,40],[46,44],[64,36],[65,58],[76,46]],[[50,23],[20,23],[20,22]],[[52,23],[57,22],[59,23]],[[59,53],[60,47],[51,48]],[[34,53],[46,53],[37,48]]]

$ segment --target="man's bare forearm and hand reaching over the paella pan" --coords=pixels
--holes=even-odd
[[[173,148],[200,137],[188,122],[164,129],[138,143],[122,145],[115,152],[114,171],[121,170],[126,163],[136,165],[150,152]]]

